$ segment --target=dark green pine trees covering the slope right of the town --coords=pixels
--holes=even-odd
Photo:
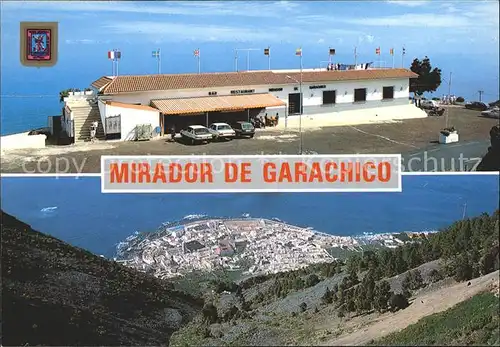
[[[322,297],[324,305],[334,305],[339,317],[348,313],[405,309],[412,293],[427,285],[417,269],[420,265],[438,259],[444,262],[443,271],[430,272],[431,282],[444,277],[466,281],[498,270],[498,219],[499,211],[492,215],[485,213],[457,221],[438,233],[421,234],[396,249],[364,251],[349,257],[345,263],[315,264],[295,271],[252,277],[239,284],[219,283],[218,292],[237,293],[241,298],[240,305],[224,317],[214,317],[215,311],[206,311],[210,316],[205,316],[205,322],[224,322],[248,316],[248,312],[259,306],[341,274],[340,284],[327,288]],[[406,274],[401,292],[392,292],[386,279],[403,273]],[[265,286],[262,285],[264,283]],[[255,288],[255,295],[241,295],[243,290],[252,288]],[[305,311],[307,306],[300,305],[299,308]]]

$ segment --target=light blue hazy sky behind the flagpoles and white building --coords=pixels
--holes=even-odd
[[[57,95],[85,88],[111,74],[107,52],[119,49],[120,74],[157,73],[151,52],[162,51],[162,73],[267,69],[263,49],[271,48],[273,68],[324,66],[329,48],[334,62],[409,67],[428,56],[442,69],[448,92],[468,100],[484,91],[498,99],[499,2],[488,1],[1,1],[2,98]],[[59,60],[53,68],[27,68],[19,60],[19,22],[59,22]],[[14,47],[14,49],[13,49]],[[375,49],[381,48],[381,56]],[[406,55],[401,56],[402,47]],[[389,51],[394,48],[394,61]],[[379,62],[380,61],[380,62]],[[57,78],[56,78],[57,77]],[[30,83],[26,83],[29,80]],[[4,100],[2,100],[4,101]],[[9,110],[12,110],[11,103]],[[6,106],[7,107],[7,106]],[[40,107],[33,112],[40,111]],[[3,108],[3,106],[2,106]],[[59,108],[56,103],[55,109]],[[48,112],[48,111],[47,111]],[[49,114],[47,114],[49,115]]]

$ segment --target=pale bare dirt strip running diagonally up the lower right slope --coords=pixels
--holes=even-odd
[[[494,286],[498,287],[498,276],[499,272],[495,271],[470,281],[470,286],[467,285],[467,282],[457,283],[450,287],[419,295],[407,309],[384,314],[364,329],[361,328],[353,333],[339,336],[322,343],[322,345],[365,345],[371,340],[377,340],[390,333],[400,331],[425,316],[445,311],[482,291],[493,289]]]

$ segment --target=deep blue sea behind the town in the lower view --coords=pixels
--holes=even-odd
[[[113,257],[136,231],[188,216],[278,218],[332,235],[433,231],[499,208],[498,175],[404,176],[402,193],[102,194],[99,177],[2,177],[2,209]],[[464,207],[465,206],[465,207]]]

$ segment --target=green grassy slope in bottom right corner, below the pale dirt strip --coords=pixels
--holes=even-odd
[[[498,298],[481,293],[373,342],[380,346],[498,346]]]

